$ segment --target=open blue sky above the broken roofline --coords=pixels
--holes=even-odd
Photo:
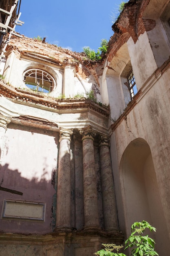
[[[113,35],[113,16],[119,15],[122,0],[22,0],[16,31],[75,52],[84,46],[97,51],[102,39]]]

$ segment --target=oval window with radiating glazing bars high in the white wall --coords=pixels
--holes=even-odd
[[[45,93],[51,92],[55,86],[53,77],[46,71],[37,68],[26,70],[24,82],[28,88]]]

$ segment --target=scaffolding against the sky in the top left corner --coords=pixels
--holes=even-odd
[[[6,0],[0,4],[0,62],[4,58],[5,49],[12,35],[22,37],[15,33],[16,25],[22,26],[20,21],[21,0]]]

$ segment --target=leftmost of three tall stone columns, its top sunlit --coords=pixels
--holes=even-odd
[[[71,230],[71,157],[73,129],[60,130],[60,151],[57,182],[56,229]]]

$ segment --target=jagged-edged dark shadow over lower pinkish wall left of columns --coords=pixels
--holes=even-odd
[[[0,165],[0,186],[6,189],[6,191],[0,190],[1,213],[4,199],[41,202],[46,205],[45,222],[1,219],[1,232],[46,234],[53,231],[56,211],[56,170],[52,170],[52,179],[48,181],[43,177],[45,172],[43,169],[41,179],[33,177],[28,180],[22,177],[17,169],[10,169],[9,164]],[[11,193],[11,190],[21,192],[22,195],[15,192]]]

